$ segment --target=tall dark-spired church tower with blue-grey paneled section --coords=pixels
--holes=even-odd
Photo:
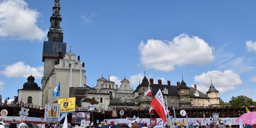
[[[63,32],[60,26],[62,17],[60,15],[60,0],[54,0],[52,7],[52,16],[50,17],[50,29],[44,41],[42,62],[44,62],[44,76],[42,77],[42,89],[45,86],[46,79],[54,69],[54,61],[58,59],[58,51],[61,49],[63,55],[66,54],[66,43],[63,42]]]

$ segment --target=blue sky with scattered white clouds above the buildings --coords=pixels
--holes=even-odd
[[[154,83],[161,78],[164,84],[170,80],[176,85],[183,72],[187,86],[196,83],[206,92],[211,75],[224,101],[238,95],[256,100],[256,1],[60,3],[64,42],[86,63],[91,87],[104,73],[114,81],[126,75],[135,89],[146,67]],[[3,98],[17,96],[31,73],[41,87],[42,47],[52,4],[53,0],[0,0],[0,7],[5,7],[0,10]]]

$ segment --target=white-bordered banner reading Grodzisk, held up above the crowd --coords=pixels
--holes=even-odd
[[[46,122],[59,122],[60,104],[46,104],[44,110],[44,119]]]

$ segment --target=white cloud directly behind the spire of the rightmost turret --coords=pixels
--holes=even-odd
[[[221,71],[208,71],[201,75],[196,75],[194,81],[200,83],[198,90],[206,93],[210,87],[210,76],[212,77],[212,84],[220,92],[224,93],[229,90],[236,89],[236,86],[242,84],[240,75],[234,73],[232,70]]]

